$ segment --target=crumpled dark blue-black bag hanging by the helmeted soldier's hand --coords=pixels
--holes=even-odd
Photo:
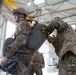
[[[19,59],[15,55],[15,56],[12,56],[10,59],[8,59],[8,61],[6,62],[2,70],[4,72],[8,72],[9,74],[13,74],[14,72],[16,72],[18,67],[19,67]]]

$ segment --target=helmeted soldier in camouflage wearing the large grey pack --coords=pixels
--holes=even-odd
[[[15,40],[8,46],[7,53],[1,62],[1,66],[3,67],[9,58],[18,54],[20,58],[20,66],[13,75],[22,75],[32,57],[32,51],[26,49],[26,43],[31,32],[31,25],[25,20],[27,13],[23,8],[14,9],[13,15],[18,23],[15,32]]]

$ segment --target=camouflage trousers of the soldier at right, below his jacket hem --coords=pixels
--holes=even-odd
[[[76,75],[76,55],[67,52],[59,63],[59,75]]]

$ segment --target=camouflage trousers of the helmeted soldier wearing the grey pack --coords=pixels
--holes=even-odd
[[[29,50],[25,50],[25,53],[19,54],[19,59],[20,59],[20,65],[17,69],[17,71],[13,75],[29,75],[28,71],[28,65],[30,64],[32,54],[30,53]]]

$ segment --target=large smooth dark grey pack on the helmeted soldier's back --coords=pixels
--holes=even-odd
[[[36,24],[30,33],[27,41],[27,48],[30,50],[38,50],[40,46],[46,40],[46,34],[42,32],[42,29],[46,26],[44,24]]]

